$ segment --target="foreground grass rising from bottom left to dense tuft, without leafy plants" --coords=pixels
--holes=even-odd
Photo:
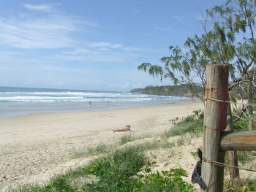
[[[57,175],[43,187],[26,186],[13,190],[13,192],[127,191],[133,183],[133,179],[129,177],[139,172],[145,163],[143,150],[137,147],[127,147],[116,150],[104,158],[98,158],[89,166]],[[127,180],[129,180],[129,185],[125,184]]]

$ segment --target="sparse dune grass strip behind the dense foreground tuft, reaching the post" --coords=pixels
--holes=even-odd
[[[200,137],[203,131],[203,112],[201,110],[194,111],[192,115],[188,115],[186,118],[175,118],[170,120],[173,124],[171,128],[165,131],[163,134],[159,134],[161,140],[152,139],[148,142],[143,142],[135,146],[140,147],[143,150],[156,150],[159,148],[171,148],[175,146],[189,145],[192,142],[192,138]],[[168,142],[168,138],[179,136],[178,139]],[[154,137],[157,137],[156,135]],[[72,158],[81,158],[90,155],[99,155],[102,153],[111,153],[118,146],[125,145],[129,142],[136,142],[140,139],[153,138],[151,135],[142,135],[136,137],[132,134],[125,134],[122,136],[116,145],[105,145],[99,143],[96,147],[89,147],[86,151],[75,153]]]

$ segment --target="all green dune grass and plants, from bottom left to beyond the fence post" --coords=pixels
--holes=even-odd
[[[200,113],[195,112],[187,118],[176,120],[176,122],[173,121],[173,127],[170,130],[157,138],[145,140],[142,139],[145,137],[126,134],[120,138],[115,146],[100,143],[96,147],[87,149],[84,153],[77,154],[76,157],[105,153],[104,157],[97,158],[88,166],[57,175],[46,185],[22,186],[13,192],[193,191],[192,185],[182,180],[182,177],[186,175],[183,169],[152,172],[151,166],[154,166],[156,162],[148,162],[145,155],[148,150],[189,145],[192,139],[196,139],[203,129],[203,118]],[[178,130],[179,128],[182,131]],[[169,139],[173,136],[178,137]],[[126,145],[129,142],[131,145]],[[115,150],[118,146],[121,146],[120,149]],[[196,153],[191,153],[191,155],[197,156]],[[246,163],[252,157],[255,157],[253,152],[238,154],[241,164]],[[246,180],[243,183],[233,185],[229,180],[225,180],[225,188],[232,192],[238,192],[241,189],[252,191],[256,189],[256,184],[255,180]]]

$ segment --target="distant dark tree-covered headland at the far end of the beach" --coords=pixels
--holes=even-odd
[[[203,87],[197,85],[197,90],[203,95]],[[132,89],[130,93],[150,94],[159,96],[192,96],[192,91],[185,85],[147,86],[146,88]]]

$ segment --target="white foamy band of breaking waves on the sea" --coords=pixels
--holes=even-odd
[[[20,102],[55,102],[55,101],[155,101],[155,100],[181,100],[185,97],[156,96],[132,93],[92,93],[92,92],[3,92],[0,93],[0,101]]]

